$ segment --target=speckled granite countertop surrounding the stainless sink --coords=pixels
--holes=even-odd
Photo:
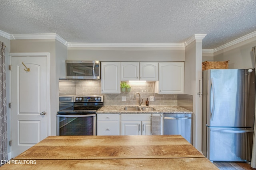
[[[116,105],[116,106],[103,106],[98,111],[97,114],[108,114],[108,113],[187,113],[191,114],[192,111],[184,109],[180,106],[140,106],[140,107],[153,107],[154,111],[128,111],[124,110],[124,107],[139,107],[139,106],[123,106],[123,105]]]

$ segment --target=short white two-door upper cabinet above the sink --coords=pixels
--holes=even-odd
[[[120,80],[158,81],[158,62],[121,62]]]

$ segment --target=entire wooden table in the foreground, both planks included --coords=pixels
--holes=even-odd
[[[218,170],[180,135],[50,136],[10,161],[24,164],[1,168]]]

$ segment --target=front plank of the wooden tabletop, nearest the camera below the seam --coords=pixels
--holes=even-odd
[[[10,160],[12,161],[12,160]],[[14,160],[13,160],[14,161]],[[207,158],[34,160],[4,164],[1,170],[218,170]]]

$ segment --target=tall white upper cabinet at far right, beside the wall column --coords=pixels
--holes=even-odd
[[[159,81],[155,83],[155,93],[184,94],[184,63],[159,63]]]

